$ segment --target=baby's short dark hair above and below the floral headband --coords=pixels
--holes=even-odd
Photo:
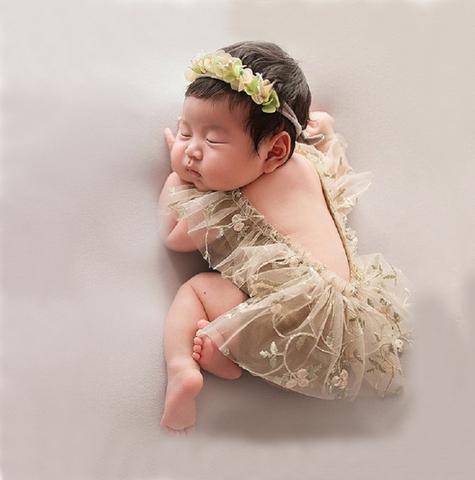
[[[233,57],[241,59],[243,65],[252,69],[254,74],[274,84],[279,101],[287,103],[297,116],[302,129],[307,126],[311,103],[310,88],[297,62],[282,48],[270,42],[239,42],[222,48]],[[264,113],[262,106],[253,102],[245,92],[232,90],[230,85],[222,80],[209,77],[199,77],[191,83],[185,97],[228,100],[232,111],[237,106],[243,106],[247,113],[245,128],[249,131],[256,152],[261,142],[276,133],[286,131],[290,135],[291,149],[289,158],[295,148],[296,131],[293,124],[278,112]]]

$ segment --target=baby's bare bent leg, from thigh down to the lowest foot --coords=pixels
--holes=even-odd
[[[195,398],[203,386],[200,367],[192,358],[198,321],[214,320],[245,298],[241,290],[219,273],[195,275],[178,290],[168,312],[164,335],[168,384],[161,427],[167,433],[186,435],[196,421]],[[221,352],[217,353],[231,362]],[[236,364],[233,366],[239,370]]]

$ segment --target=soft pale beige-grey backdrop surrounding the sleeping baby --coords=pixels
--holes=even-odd
[[[430,479],[473,472],[470,1],[3,0],[5,480]],[[163,137],[198,51],[300,60],[356,171],[359,251],[414,284],[399,398],[325,402],[205,376],[197,433],[158,428],[162,329],[205,265],[158,238]],[[469,408],[470,407],[470,408]]]

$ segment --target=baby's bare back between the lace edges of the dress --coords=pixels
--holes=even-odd
[[[294,153],[280,168],[241,190],[279,233],[349,280],[348,259],[320,177],[305,157]]]

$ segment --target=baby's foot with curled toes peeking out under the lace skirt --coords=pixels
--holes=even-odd
[[[241,376],[242,370],[239,365],[230,360],[216,346],[216,344],[201,332],[209,322],[200,320],[198,322],[198,331],[194,338],[193,358],[199,363],[200,367],[213,375],[228,380],[235,380]]]

